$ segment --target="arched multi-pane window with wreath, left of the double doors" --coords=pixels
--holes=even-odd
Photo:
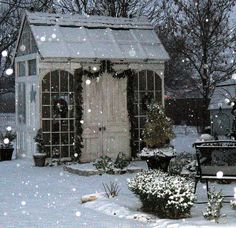
[[[42,128],[50,157],[73,155],[74,110],[73,75],[60,70],[48,73],[42,81]]]

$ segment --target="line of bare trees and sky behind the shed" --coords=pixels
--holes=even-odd
[[[146,16],[170,55],[168,89],[198,88],[207,109],[216,83],[235,71],[236,0],[0,0],[0,75],[11,65],[25,10],[112,17]],[[14,85],[12,85],[14,87]],[[9,87],[8,87],[9,88]],[[0,80],[0,91],[1,80]],[[1,93],[1,92],[0,92]]]

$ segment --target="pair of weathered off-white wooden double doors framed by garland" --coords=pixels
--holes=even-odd
[[[87,83],[86,83],[87,82]],[[83,142],[81,161],[95,161],[101,155],[130,156],[127,112],[127,79],[103,74],[83,79]]]

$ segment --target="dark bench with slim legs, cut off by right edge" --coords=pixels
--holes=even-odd
[[[214,140],[196,142],[197,173],[194,192],[199,180],[236,180],[236,140]]]

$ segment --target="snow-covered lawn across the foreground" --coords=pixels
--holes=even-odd
[[[30,159],[0,162],[0,227],[235,227],[236,211],[225,204],[226,218],[220,224],[202,216],[206,204],[196,204],[192,217],[184,220],[158,219],[145,214],[138,199],[127,188],[135,174],[82,177],[63,167],[33,167]],[[121,191],[114,199],[101,198],[81,204],[83,195],[103,192],[102,183],[117,181]],[[236,184],[217,185],[233,195]],[[199,200],[206,190],[198,185]]]

